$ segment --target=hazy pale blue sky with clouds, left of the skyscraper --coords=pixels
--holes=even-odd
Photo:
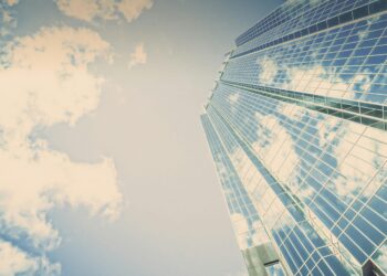
[[[281,2],[2,0],[0,275],[245,275],[199,116]]]

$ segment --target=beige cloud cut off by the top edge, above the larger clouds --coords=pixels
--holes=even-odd
[[[137,19],[144,10],[153,6],[151,0],[56,0],[57,8],[66,15],[87,22],[96,18],[117,20],[124,17],[127,22]]]

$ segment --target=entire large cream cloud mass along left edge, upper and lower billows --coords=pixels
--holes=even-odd
[[[88,29],[43,28],[17,39],[7,52],[0,65],[1,234],[40,252],[31,262],[42,269],[45,252],[61,241],[50,210],[83,205],[111,219],[121,211],[112,160],[72,162],[32,138],[36,127],[74,125],[97,107],[103,79],[87,66],[108,57],[109,44]]]

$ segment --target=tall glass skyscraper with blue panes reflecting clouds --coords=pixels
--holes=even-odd
[[[289,0],[201,116],[250,275],[387,274],[387,0]]]

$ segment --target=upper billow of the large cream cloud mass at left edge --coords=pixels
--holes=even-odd
[[[102,79],[87,65],[108,49],[87,29],[43,28],[18,39],[8,46],[10,66],[0,67],[0,125],[22,136],[35,125],[74,125],[98,104]]]

